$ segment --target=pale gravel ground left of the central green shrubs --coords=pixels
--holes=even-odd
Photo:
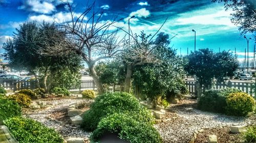
[[[92,103],[93,100],[88,99],[46,99],[46,100],[39,100],[42,102],[47,103],[46,108],[42,109],[26,109],[25,110],[25,116],[30,117],[42,124],[45,124],[46,126],[50,128],[54,128],[56,131],[58,131],[65,139],[69,137],[83,137],[83,138],[89,138],[91,135],[90,132],[85,132],[82,129],[79,128],[79,126],[69,126],[67,125],[67,107],[72,103],[83,103],[86,105],[89,105]],[[56,119],[54,121],[53,119]],[[61,121],[62,120],[62,121]],[[58,122],[61,121],[61,122]]]

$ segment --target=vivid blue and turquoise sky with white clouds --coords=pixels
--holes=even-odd
[[[63,0],[65,1],[65,0]],[[75,14],[83,12],[87,0],[68,0],[75,8]],[[94,1],[89,0],[89,3]],[[160,32],[173,37],[170,46],[178,54],[187,54],[187,48],[194,51],[194,32],[196,49],[209,48],[215,52],[237,49],[239,58],[244,57],[247,42],[240,35],[238,26],[230,21],[232,10],[225,11],[223,4],[211,0],[96,0],[96,9],[103,12],[103,20],[115,16],[124,18],[116,23],[127,30],[127,18],[133,33],[144,31],[155,34],[164,20],[167,21]],[[15,28],[25,21],[41,23],[61,23],[70,21],[67,5],[59,0],[0,0],[0,52],[7,38],[11,38]],[[126,18],[125,18],[126,17]],[[246,37],[252,37],[247,33]],[[254,42],[249,42],[249,56],[253,57]]]

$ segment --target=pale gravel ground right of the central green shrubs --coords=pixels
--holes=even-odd
[[[255,116],[242,118],[205,112],[195,109],[196,104],[197,102],[194,100],[182,100],[176,105],[172,104],[166,110],[167,112],[176,112],[178,118],[155,125],[164,142],[189,142],[193,137],[193,133],[202,128],[256,123]]]

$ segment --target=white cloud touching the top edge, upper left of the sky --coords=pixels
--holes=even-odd
[[[24,0],[23,5],[18,7],[18,9],[24,9],[43,14],[50,14],[56,10],[52,3],[41,2],[38,0]]]

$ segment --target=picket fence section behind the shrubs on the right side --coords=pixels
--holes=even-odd
[[[196,81],[185,80],[185,83],[187,85],[189,94],[195,94]],[[233,81],[221,82],[221,83],[216,83],[212,88],[217,90],[220,90],[223,88],[236,88],[236,89],[242,90],[245,93],[250,94],[255,98],[253,89],[255,89],[256,87],[254,83],[250,83],[250,82],[233,82]]]

